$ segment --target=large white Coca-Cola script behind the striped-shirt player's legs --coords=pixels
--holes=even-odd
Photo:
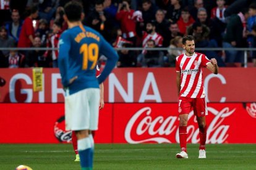
[[[215,118],[211,121],[207,129],[207,144],[222,144],[228,138],[229,125],[222,124],[224,119],[232,115],[236,108],[229,110],[228,107],[223,108],[221,111],[215,110],[215,108],[208,107],[208,111],[215,115]],[[151,116],[151,108],[144,107],[137,111],[126,125],[124,136],[129,144],[140,144],[143,142],[157,142],[159,144],[166,142],[172,143],[167,137],[173,131],[176,130],[176,142],[179,142],[179,128],[174,125],[178,120],[178,116],[168,116],[166,119],[163,116],[157,116],[153,119]],[[192,118],[193,111],[189,114],[189,119]],[[134,127],[136,121],[141,120],[137,127]],[[196,118],[194,117],[194,122]],[[159,128],[156,129],[156,124]],[[136,136],[142,137],[143,134],[150,136],[159,135],[158,137],[149,137],[148,139],[134,140],[132,138],[132,129],[135,129]],[[187,126],[187,140],[191,139],[192,144],[197,144],[199,141],[198,127],[194,125]],[[134,133],[133,133],[134,134]]]

